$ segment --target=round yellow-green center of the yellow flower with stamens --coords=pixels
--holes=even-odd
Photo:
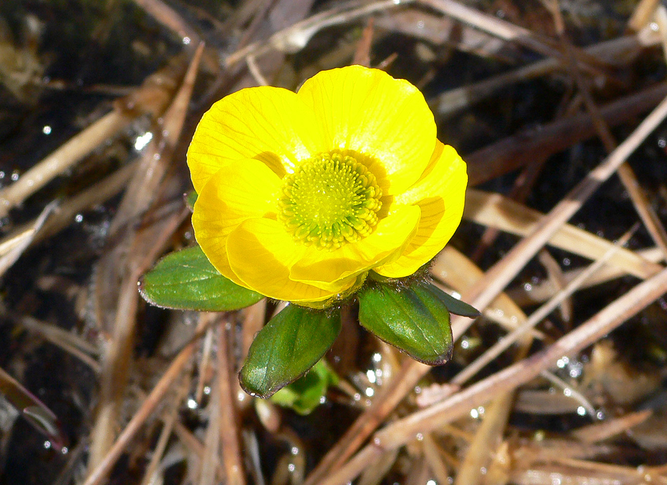
[[[279,219],[294,239],[318,248],[340,248],[372,233],[382,190],[354,157],[324,153],[283,178]]]

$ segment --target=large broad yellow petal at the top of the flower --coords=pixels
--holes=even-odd
[[[420,177],[436,143],[436,123],[419,89],[359,65],[321,71],[298,92],[317,116],[319,151],[347,149],[376,175],[385,194]],[[368,162],[368,163],[367,163]]]

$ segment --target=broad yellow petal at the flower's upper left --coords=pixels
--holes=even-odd
[[[199,192],[207,179],[230,160],[255,158],[282,177],[307,159],[317,141],[313,111],[287,89],[241,89],[213,104],[187,151],[192,183]]]

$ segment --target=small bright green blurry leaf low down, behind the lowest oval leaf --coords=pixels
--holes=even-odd
[[[271,401],[305,416],[319,406],[329,386],[338,384],[338,380],[336,372],[333,372],[326,361],[321,359],[305,376],[273,394]]]

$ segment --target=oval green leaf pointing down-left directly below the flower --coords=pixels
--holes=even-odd
[[[303,376],[340,333],[340,312],[289,304],[262,328],[239,374],[245,392],[268,398]]]

